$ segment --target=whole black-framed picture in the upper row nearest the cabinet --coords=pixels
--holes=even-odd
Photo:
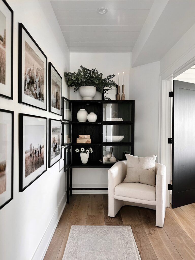
[[[62,115],[62,77],[49,62],[49,112]]]

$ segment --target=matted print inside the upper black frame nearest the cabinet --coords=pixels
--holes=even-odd
[[[61,78],[51,67],[51,106],[61,109]]]

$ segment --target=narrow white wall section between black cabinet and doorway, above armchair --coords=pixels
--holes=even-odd
[[[129,99],[135,100],[136,156],[158,155],[159,73],[159,61],[130,68]]]

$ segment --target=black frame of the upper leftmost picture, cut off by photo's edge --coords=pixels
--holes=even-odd
[[[9,11],[11,12],[11,84],[10,84],[10,88],[11,88],[11,95],[4,95],[2,93],[0,93],[1,97],[4,97],[6,99],[11,99],[13,100],[13,49],[14,49],[14,11],[11,9],[10,5],[5,1],[5,0],[0,0],[2,1],[6,7],[9,9]],[[1,10],[0,10],[1,11]],[[6,87],[6,84],[5,84]]]

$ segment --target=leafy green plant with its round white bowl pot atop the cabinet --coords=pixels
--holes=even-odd
[[[80,66],[78,72],[64,72],[68,87],[74,87],[74,91],[79,90],[83,100],[92,100],[96,91],[103,93],[104,88],[107,90],[115,87],[116,83],[112,80],[115,75],[108,75],[103,79],[103,74],[99,73],[96,68],[86,69]]]

